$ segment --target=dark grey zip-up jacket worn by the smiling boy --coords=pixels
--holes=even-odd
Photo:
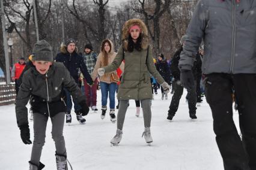
[[[53,62],[45,75],[40,74],[35,66],[23,75],[22,84],[16,99],[17,125],[28,125],[28,104],[30,96],[33,113],[53,117],[59,112],[66,111],[63,101],[63,87],[65,87],[78,103],[85,102],[78,84],[70,76],[67,68],[59,62]],[[48,109],[49,108],[49,109]]]

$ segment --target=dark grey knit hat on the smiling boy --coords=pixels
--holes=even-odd
[[[52,47],[46,40],[40,40],[33,47],[32,60],[53,62]]]

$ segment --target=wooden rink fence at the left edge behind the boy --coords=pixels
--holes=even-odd
[[[0,85],[0,106],[14,104],[16,99],[15,84]]]

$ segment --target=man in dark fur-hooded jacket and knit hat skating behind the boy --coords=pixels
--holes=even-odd
[[[87,80],[87,83],[91,86],[93,85],[93,80],[91,80],[91,76],[87,71],[87,66],[84,63],[84,59],[77,53],[77,51],[78,49],[76,48],[76,41],[73,39],[69,39],[67,40],[66,45],[61,46],[61,53],[57,54],[55,61],[64,63],[66,68],[69,70],[70,75],[74,78],[77,84],[79,83],[78,71],[80,69],[85,79]],[[71,123],[72,117],[70,113],[72,109],[72,99],[70,93],[66,89],[64,89],[64,91],[66,92],[67,101],[66,123]],[[79,123],[84,124],[86,120],[82,117],[80,113],[81,107],[76,103],[75,100],[73,100],[73,102],[76,119],[78,119]]]

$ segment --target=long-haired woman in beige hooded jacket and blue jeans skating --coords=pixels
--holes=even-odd
[[[114,45],[111,40],[103,40],[100,48],[100,54],[97,58],[96,65],[93,70],[93,81],[97,78],[97,69],[102,68],[103,66],[110,65],[111,62],[115,59],[117,53],[114,51]],[[102,92],[102,115],[101,118],[105,119],[107,102],[109,96],[109,116],[112,123],[117,121],[115,117],[115,90],[117,90],[117,83],[112,79],[112,74],[117,75],[116,69],[108,74],[105,74],[100,77],[100,90]],[[119,78],[118,78],[119,79]]]

